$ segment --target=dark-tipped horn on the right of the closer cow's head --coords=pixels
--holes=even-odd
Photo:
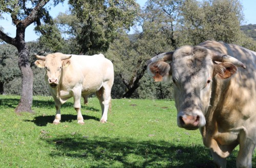
[[[232,63],[233,65],[236,65],[238,67],[246,68],[245,65],[239,61],[238,59],[235,59],[229,55],[219,53],[219,52],[214,52],[212,54],[212,61],[218,61],[218,62],[229,62]]]

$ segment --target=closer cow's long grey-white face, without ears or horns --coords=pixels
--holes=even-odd
[[[186,129],[203,127],[214,72],[211,55],[206,49],[181,47],[174,52],[171,68],[178,126]]]

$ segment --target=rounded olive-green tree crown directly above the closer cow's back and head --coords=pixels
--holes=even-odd
[[[206,40],[236,43],[240,38],[243,10],[239,0],[185,1],[181,8],[185,43],[197,45]]]

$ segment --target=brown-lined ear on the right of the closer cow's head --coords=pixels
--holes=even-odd
[[[222,79],[229,78],[236,72],[237,67],[228,62],[217,64],[214,68],[214,74]]]

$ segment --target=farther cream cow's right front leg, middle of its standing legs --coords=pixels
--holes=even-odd
[[[77,112],[77,123],[78,124],[84,124],[83,117],[81,114],[81,89],[77,89],[77,91],[74,91],[73,93],[74,97],[74,108]]]

